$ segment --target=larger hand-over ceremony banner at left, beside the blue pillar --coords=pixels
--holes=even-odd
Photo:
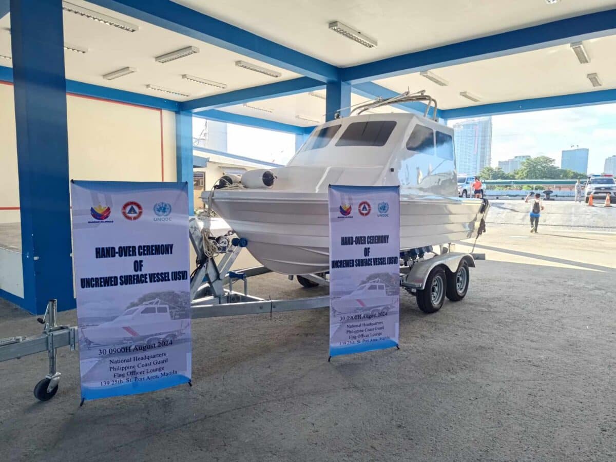
[[[71,183],[82,399],[187,383],[187,184]]]

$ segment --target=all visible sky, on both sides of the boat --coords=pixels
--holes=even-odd
[[[235,124],[227,124],[227,133],[232,154],[286,164],[295,152],[294,134]],[[601,173],[606,157],[616,154],[616,103],[492,117],[493,167],[516,155],[545,155],[560,166],[561,151],[572,146],[588,148],[588,172]]]

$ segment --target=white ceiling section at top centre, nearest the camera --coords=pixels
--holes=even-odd
[[[614,0],[173,0],[339,67],[616,7]],[[338,20],[378,41],[328,29]]]

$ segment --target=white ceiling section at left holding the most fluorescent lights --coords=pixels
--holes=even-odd
[[[184,101],[299,77],[293,72],[249,59],[112,10],[81,0],[71,0],[71,2],[136,24],[139,26],[139,31],[134,33],[123,31],[73,13],[64,12],[65,43],[88,49],[86,54],[65,52],[67,79]],[[10,55],[10,33],[7,30],[10,28],[9,16],[6,15],[0,19],[0,55]],[[200,52],[164,64],[154,60],[156,56],[187,46],[198,47]],[[272,78],[237,67],[235,65],[237,60],[245,60],[261,65],[261,67],[277,70],[282,73],[282,76]],[[0,65],[10,66],[11,62],[0,59]],[[137,68],[137,72],[111,81],[102,78],[103,75],[123,67]],[[182,79],[183,74],[225,83],[228,87],[222,90],[190,82]],[[166,87],[188,94],[190,97],[177,97],[147,89],[145,87],[147,84]]]

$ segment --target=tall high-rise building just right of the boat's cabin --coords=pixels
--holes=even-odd
[[[456,148],[456,169],[476,175],[490,165],[492,150],[492,118],[467,119],[453,124]]]

